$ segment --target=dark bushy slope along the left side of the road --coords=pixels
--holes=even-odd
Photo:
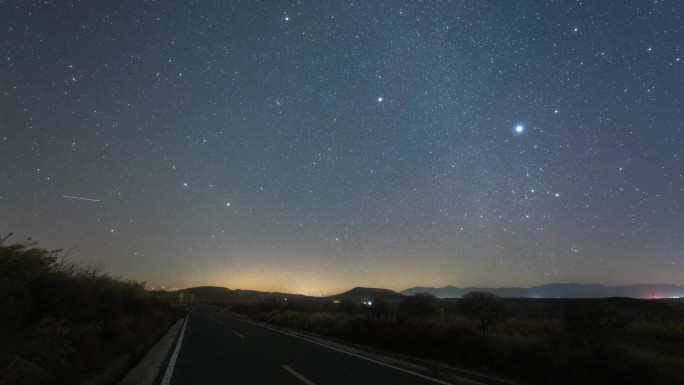
[[[11,234],[10,234],[11,236]],[[139,358],[181,315],[144,283],[0,236],[0,384],[79,384]]]

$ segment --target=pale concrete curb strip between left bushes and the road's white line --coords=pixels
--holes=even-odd
[[[179,319],[171,326],[166,334],[126,374],[126,377],[118,385],[152,385],[159,372],[163,369],[166,356],[176,340],[183,321],[184,319]]]

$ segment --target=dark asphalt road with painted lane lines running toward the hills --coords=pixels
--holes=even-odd
[[[445,384],[254,323],[190,312],[166,381],[190,384]]]

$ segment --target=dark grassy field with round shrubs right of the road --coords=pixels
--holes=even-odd
[[[680,384],[684,302],[462,299],[261,301],[222,304],[327,338],[528,384]]]

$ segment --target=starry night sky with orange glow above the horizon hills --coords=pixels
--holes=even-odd
[[[0,234],[115,276],[684,283],[684,2],[0,0]]]

